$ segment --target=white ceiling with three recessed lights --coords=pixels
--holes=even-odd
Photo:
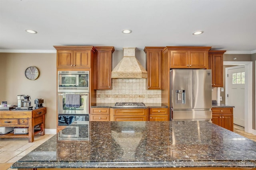
[[[204,33],[192,35],[197,30]],[[252,54],[256,0],[0,0],[0,52],[50,52],[53,45],[210,46]]]

